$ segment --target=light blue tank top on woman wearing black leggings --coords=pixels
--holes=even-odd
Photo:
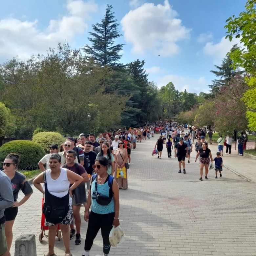
[[[91,186],[92,211],[98,214],[107,214],[107,213],[115,212],[114,198],[112,198],[111,202],[108,205],[101,205],[96,202],[95,182],[96,182],[96,178],[92,182],[92,186]],[[97,184],[97,192],[102,196],[109,197],[108,181],[106,181],[104,184]]]

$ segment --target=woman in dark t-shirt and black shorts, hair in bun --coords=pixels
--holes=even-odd
[[[18,207],[24,204],[32,195],[33,190],[31,185],[29,184],[27,178],[17,172],[17,168],[19,165],[19,155],[10,153],[4,160],[3,169],[4,173],[11,179],[11,186],[13,192],[14,203],[10,208],[5,209],[5,236],[8,251],[10,252],[11,243],[12,243],[12,226],[14,224],[15,218],[18,214]],[[17,201],[19,191],[22,191],[25,195],[20,202]]]

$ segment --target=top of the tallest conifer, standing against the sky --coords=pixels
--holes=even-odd
[[[92,37],[88,37],[88,39],[92,46],[86,45],[83,49],[101,65],[115,66],[122,57],[119,52],[124,44],[114,45],[114,40],[121,34],[118,32],[119,24],[112,9],[112,5],[107,5],[104,19],[93,25],[94,32],[89,32]]]

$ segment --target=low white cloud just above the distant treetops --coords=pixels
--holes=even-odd
[[[165,86],[169,82],[172,82],[176,90],[183,92],[186,90],[189,93],[199,94],[200,92],[208,93],[207,82],[204,77],[199,77],[198,79],[178,76],[178,75],[165,75],[158,79],[157,85],[160,88]]]

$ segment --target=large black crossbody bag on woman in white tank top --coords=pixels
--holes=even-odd
[[[43,172],[43,177],[45,187],[43,214],[47,222],[59,224],[64,220],[69,211],[69,193],[61,198],[51,195],[47,188],[45,172]]]

